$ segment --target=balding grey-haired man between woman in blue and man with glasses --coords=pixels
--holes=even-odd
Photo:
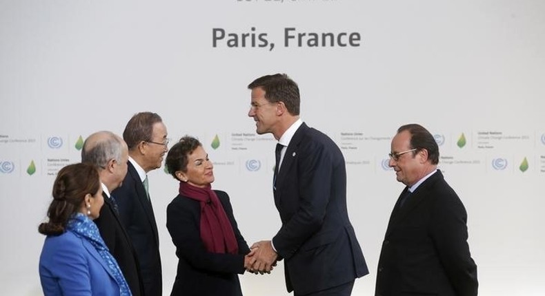
[[[117,212],[110,192],[121,186],[127,174],[128,149],[125,141],[111,131],[98,131],[83,143],[81,162],[88,162],[99,169],[104,206],[95,219],[100,235],[110,253],[115,257],[132,295],[143,295],[142,279],[135,249]]]

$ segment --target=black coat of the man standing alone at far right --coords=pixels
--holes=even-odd
[[[397,204],[382,244],[375,295],[477,295],[466,209],[441,171],[422,182],[402,208]]]

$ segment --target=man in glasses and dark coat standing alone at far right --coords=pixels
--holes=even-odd
[[[390,167],[406,185],[382,244],[375,295],[477,295],[464,204],[437,170],[439,147],[424,127],[399,127]]]

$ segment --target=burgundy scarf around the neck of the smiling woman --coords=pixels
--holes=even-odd
[[[231,222],[210,185],[199,188],[180,182],[179,192],[201,204],[201,240],[206,250],[212,253],[238,253],[239,246]]]

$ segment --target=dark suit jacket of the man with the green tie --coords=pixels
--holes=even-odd
[[[123,186],[112,191],[112,197],[117,202],[121,224],[137,253],[144,295],[162,296],[161,256],[155,215],[146,189],[130,161]]]

